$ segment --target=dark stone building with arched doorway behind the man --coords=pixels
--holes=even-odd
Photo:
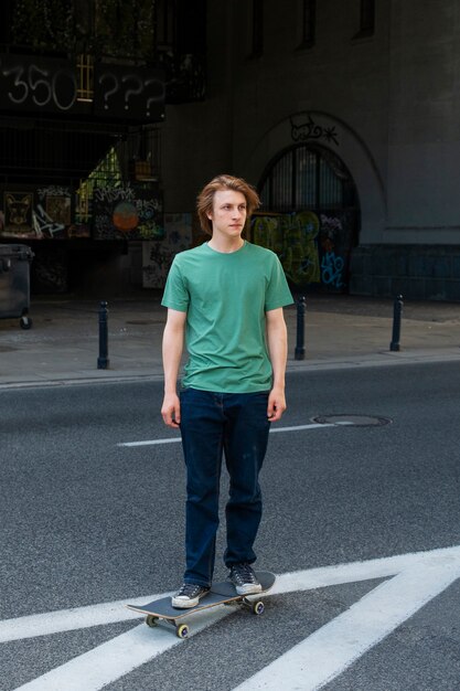
[[[208,2],[206,97],[161,126],[165,208],[239,174],[259,237],[301,245],[299,286],[313,243],[311,288],[460,300],[459,33],[457,0]]]

